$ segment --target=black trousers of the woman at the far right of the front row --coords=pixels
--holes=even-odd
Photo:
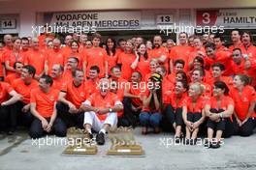
[[[250,136],[255,127],[256,120],[254,118],[249,118],[241,127],[239,126],[237,119],[234,119],[234,134],[240,136]]]

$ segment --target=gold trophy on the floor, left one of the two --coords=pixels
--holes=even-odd
[[[96,155],[98,152],[95,140],[84,129],[69,128],[67,138],[68,147],[64,150],[64,155]]]

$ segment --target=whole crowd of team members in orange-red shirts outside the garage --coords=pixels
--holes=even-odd
[[[249,136],[256,126],[256,47],[249,32],[160,35],[115,42],[100,34],[4,36],[0,42],[1,130],[29,127],[29,135],[65,136],[85,128],[105,143],[109,128],[142,126],[147,134],[174,130],[175,141],[219,148],[223,137]],[[183,139],[184,140],[181,140]]]

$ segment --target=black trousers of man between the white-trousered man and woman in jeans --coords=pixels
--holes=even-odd
[[[139,115],[141,110],[134,111],[132,109],[132,101],[130,98],[123,99],[123,115],[118,118],[117,127],[130,127],[135,128],[139,123]]]

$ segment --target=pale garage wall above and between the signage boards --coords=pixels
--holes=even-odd
[[[38,13],[46,12],[144,10],[146,18],[152,14],[151,9],[173,9],[175,12],[184,9],[176,13],[175,19],[191,24],[193,9],[255,7],[254,0],[0,0],[0,14],[18,15],[16,31],[20,36],[31,35],[31,26],[36,25],[40,17]],[[148,25],[151,22],[148,21]]]

